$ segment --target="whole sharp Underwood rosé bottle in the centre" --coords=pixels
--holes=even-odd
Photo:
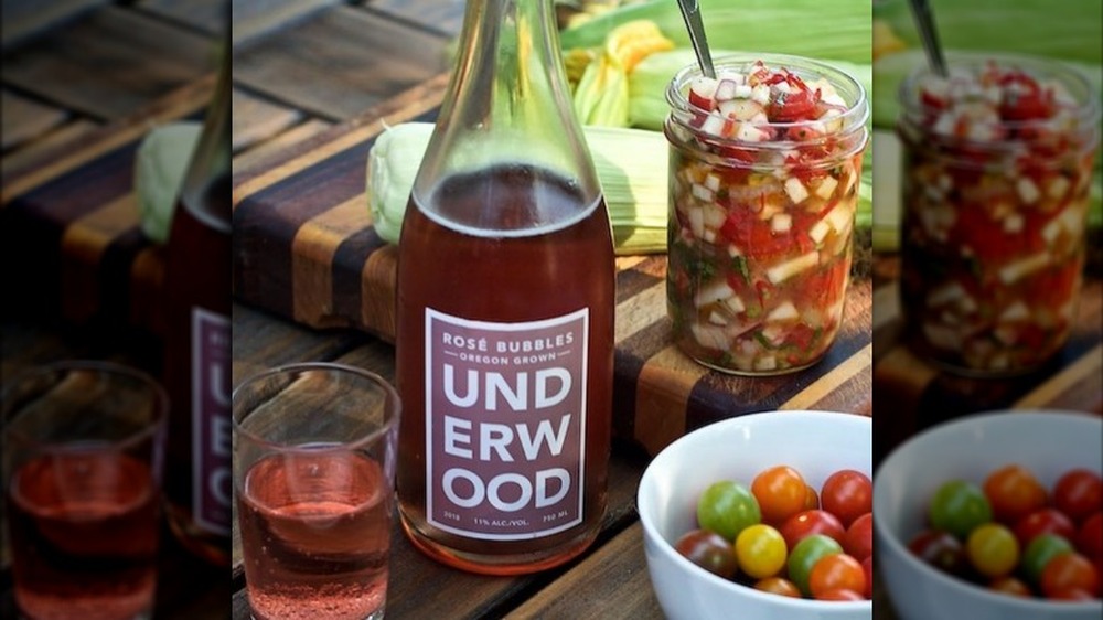
[[[429,556],[520,574],[606,510],[614,275],[550,0],[472,0],[398,257],[403,524]]]

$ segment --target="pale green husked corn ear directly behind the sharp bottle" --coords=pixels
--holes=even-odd
[[[655,131],[583,127],[612,222],[618,254],[666,252],[666,138]],[[376,233],[398,243],[432,124],[403,122],[367,157],[367,202]]]

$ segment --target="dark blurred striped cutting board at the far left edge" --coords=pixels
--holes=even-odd
[[[213,93],[211,74],[4,178],[0,274],[14,293],[6,296],[9,311],[163,333],[163,248],[139,227],[135,153],[150,127],[199,118]]]

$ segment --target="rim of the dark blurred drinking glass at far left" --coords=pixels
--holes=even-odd
[[[153,396],[153,407],[152,415],[150,419],[142,424],[135,431],[127,434],[118,439],[104,439],[96,441],[44,441],[42,439],[36,439],[26,435],[13,427],[15,420],[22,419],[24,416],[32,415],[28,413],[19,413],[9,418],[11,411],[8,410],[8,406],[12,398],[12,395],[21,385],[23,385],[28,380],[35,376],[49,376],[53,374],[67,374],[72,371],[94,371],[99,374],[125,376],[132,380],[136,384],[141,384],[147,386],[151,395]],[[110,362],[106,360],[63,360],[57,362],[50,362],[46,364],[35,365],[29,368],[24,368],[18,372],[12,378],[7,380],[6,386],[0,391],[0,414],[2,414],[2,419],[0,419],[0,425],[3,429],[3,441],[7,442],[9,438],[18,439],[20,442],[26,445],[28,447],[34,449],[39,452],[54,452],[54,453],[79,453],[79,452],[98,452],[106,449],[122,450],[126,451],[129,448],[141,445],[147,439],[156,437],[168,425],[169,417],[169,395],[157,380],[153,378],[149,373],[138,370],[133,366],[127,364],[121,364],[118,362]],[[56,385],[56,384],[54,384]]]

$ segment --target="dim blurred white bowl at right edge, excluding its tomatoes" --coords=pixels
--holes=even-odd
[[[1067,470],[1100,471],[1103,419],[1060,411],[993,411],[932,427],[893,450],[874,478],[875,564],[903,620],[1099,620],[1103,603],[1048,602],[987,591],[921,562],[907,544],[943,482],[977,482],[1011,462],[1052,489]]]

